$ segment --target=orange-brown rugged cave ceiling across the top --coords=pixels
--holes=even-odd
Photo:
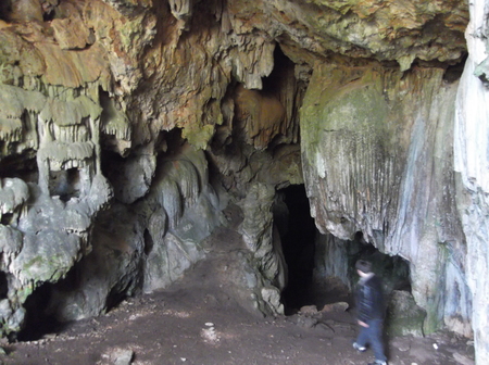
[[[22,0],[7,2],[0,17],[4,84],[53,96],[74,89],[96,101],[103,90],[128,115],[133,147],[179,127],[205,148],[233,117],[220,110],[229,85],[262,89],[275,48],[305,81],[316,62],[448,66],[466,53],[468,10],[456,0]],[[291,98],[287,88],[297,93],[290,90],[297,86],[283,85],[280,98]],[[127,135],[114,121],[104,126],[111,135]],[[256,146],[274,137],[258,136]],[[124,153],[127,143],[118,139]]]

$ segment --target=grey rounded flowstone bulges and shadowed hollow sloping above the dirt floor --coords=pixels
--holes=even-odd
[[[125,166],[127,174],[139,173],[134,166]],[[108,177],[117,188],[118,175]],[[223,223],[222,203],[206,181],[202,151],[187,147],[172,158],[161,156],[142,199],[114,201],[98,214],[92,251],[54,287],[47,313],[61,322],[96,316],[120,298],[152,292],[180,278],[205,256],[203,240]],[[131,192],[139,194],[124,196]]]

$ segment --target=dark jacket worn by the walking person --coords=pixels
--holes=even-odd
[[[384,293],[379,277],[360,280],[356,287],[356,316],[359,320],[384,319]]]

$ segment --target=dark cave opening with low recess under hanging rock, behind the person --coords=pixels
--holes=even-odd
[[[354,264],[361,259],[371,261],[374,272],[381,276],[386,297],[393,290],[411,292],[410,265],[401,256],[381,253],[360,231],[350,241],[317,230],[304,185],[277,192],[274,221],[288,267],[281,295],[286,315],[304,305],[315,305],[319,311],[336,302],[354,305],[352,291],[359,280]]]

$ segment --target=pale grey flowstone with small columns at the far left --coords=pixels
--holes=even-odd
[[[22,329],[27,297],[60,280],[90,251],[91,217],[112,189],[100,168],[100,106],[68,92],[62,100],[4,84],[0,92],[2,162],[12,174],[1,182],[1,317],[2,333],[10,335]],[[23,174],[15,155],[35,159],[37,171],[13,177]]]

